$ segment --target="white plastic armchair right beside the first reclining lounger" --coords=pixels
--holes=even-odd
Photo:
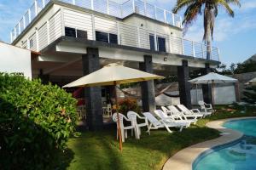
[[[131,124],[136,127],[136,138],[140,139],[140,135],[141,135],[141,127],[148,127],[148,119],[146,117],[143,116],[139,116],[136,112],[134,111],[128,111],[127,113],[127,117],[129,120],[131,120]],[[138,119],[143,119],[144,122],[143,123],[138,123],[137,122],[137,118]]]

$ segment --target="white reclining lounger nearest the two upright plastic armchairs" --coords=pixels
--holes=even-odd
[[[150,122],[148,126],[148,133],[150,134],[151,129],[159,129],[162,127],[166,127],[166,130],[169,133],[172,133],[172,130],[169,127],[177,127],[173,123],[170,122],[164,122],[163,120],[157,120],[151,113],[145,112],[143,113],[143,116],[145,116],[148,119],[148,122]],[[183,126],[180,127],[179,131],[181,132],[183,130]]]

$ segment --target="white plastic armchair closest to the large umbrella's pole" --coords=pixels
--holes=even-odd
[[[117,113],[114,113],[112,118],[113,118],[113,122],[116,122],[116,127],[117,127],[116,135],[117,135],[117,139],[119,139],[119,129],[118,129],[119,125],[118,125]],[[121,135],[122,135],[122,141],[123,142],[125,142],[125,139],[127,139],[127,131],[129,129],[131,129],[131,136],[133,135],[133,131],[135,131],[135,127],[132,125],[132,123],[131,123],[131,126],[125,126],[124,125],[124,119],[127,122],[131,122],[131,120],[126,118],[123,114],[119,113],[120,130],[121,130]]]

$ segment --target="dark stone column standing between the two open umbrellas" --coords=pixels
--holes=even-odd
[[[189,65],[187,60],[183,60],[183,65],[177,66],[177,82],[179,89],[180,103],[187,108],[192,109],[190,83],[189,81]]]

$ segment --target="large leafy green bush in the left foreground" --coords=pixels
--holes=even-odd
[[[75,132],[75,105],[57,86],[0,73],[0,169],[60,168],[54,156]]]

